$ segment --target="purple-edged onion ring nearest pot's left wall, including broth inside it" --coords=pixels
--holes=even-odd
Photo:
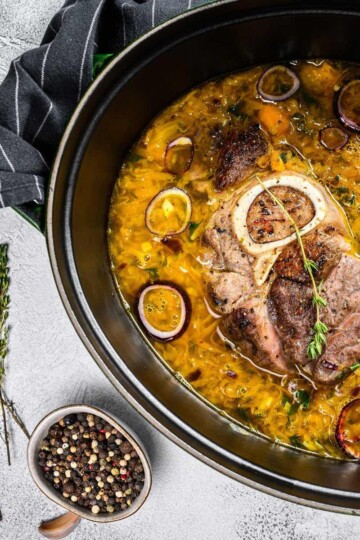
[[[171,305],[169,300],[172,301]],[[154,339],[172,341],[180,337],[189,325],[191,302],[187,292],[179,285],[171,281],[157,281],[139,291],[137,311],[145,330]],[[149,320],[154,314],[159,316],[157,325]]]

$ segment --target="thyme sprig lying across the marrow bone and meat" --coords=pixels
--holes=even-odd
[[[261,184],[261,186],[266,191],[266,193],[268,193],[268,195],[270,195],[272,200],[282,209],[282,211],[284,212],[285,216],[290,221],[290,223],[291,223],[291,225],[292,225],[292,227],[293,227],[293,229],[295,231],[296,240],[297,240],[297,242],[299,244],[300,251],[301,251],[301,256],[302,256],[303,263],[304,263],[304,268],[305,268],[305,270],[307,271],[307,273],[309,274],[309,277],[310,277],[311,286],[312,286],[312,289],[313,289],[312,303],[313,303],[313,306],[315,307],[315,310],[316,310],[316,321],[315,321],[315,324],[314,324],[314,326],[312,328],[312,340],[310,341],[309,345],[307,346],[306,353],[307,353],[307,356],[311,360],[316,360],[321,355],[321,353],[323,351],[323,347],[327,343],[326,334],[329,331],[328,327],[326,326],[325,323],[322,322],[321,317],[320,317],[320,308],[326,307],[327,302],[326,302],[325,298],[323,296],[321,296],[322,282],[320,282],[319,285],[318,285],[316,283],[316,281],[315,281],[314,272],[316,272],[318,270],[318,266],[317,266],[315,261],[312,261],[311,259],[309,259],[307,257],[307,255],[305,253],[304,242],[302,241],[302,237],[301,237],[301,234],[300,234],[299,227],[297,226],[295,220],[291,217],[289,212],[286,210],[283,203],[280,201],[280,199],[278,197],[276,197],[276,195],[274,195],[274,193],[272,193],[272,191],[270,191],[266,187],[266,185],[261,180],[261,178],[259,178],[258,176],[255,176],[255,178]]]

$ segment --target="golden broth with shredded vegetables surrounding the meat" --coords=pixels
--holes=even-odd
[[[260,371],[228,348],[216,332],[218,321],[204,301],[203,274],[198,262],[201,236],[225,192],[214,189],[218,133],[260,123],[272,144],[264,172],[292,170],[328,186],[343,207],[360,239],[360,137],[330,152],[319,142],[319,131],[340,126],[333,110],[334,92],[359,77],[358,66],[328,61],[293,62],[300,90],[286,101],[269,104],[256,83],[264,67],[232,74],[193,89],[165,109],[143,133],[126,159],[110,209],[109,250],[120,291],[134,307],[139,288],[157,279],[182,286],[192,303],[188,329],[178,339],[152,341],[164,361],[193,389],[234,419],[278,442],[326,456],[343,457],[334,428],[346,402],[356,395],[360,370],[337,387],[312,385],[300,376],[274,377]],[[275,119],[275,121],[274,121]],[[166,171],[165,151],[178,137],[194,142],[194,159],[181,176]],[[174,253],[145,226],[145,211],[161,190],[184,189],[192,199],[189,226],[172,237],[181,243]]]

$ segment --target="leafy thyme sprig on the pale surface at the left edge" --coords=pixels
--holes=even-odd
[[[9,327],[7,319],[9,315],[10,298],[9,290],[9,267],[8,246],[0,245],[0,407],[4,426],[4,440],[8,464],[11,465],[9,432],[6,421],[5,402],[3,398],[3,386],[5,381],[5,358],[8,348]]]

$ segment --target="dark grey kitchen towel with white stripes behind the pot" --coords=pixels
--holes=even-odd
[[[61,135],[93,80],[93,59],[213,0],[68,0],[41,46],[17,58],[0,86],[0,208],[40,223]]]

